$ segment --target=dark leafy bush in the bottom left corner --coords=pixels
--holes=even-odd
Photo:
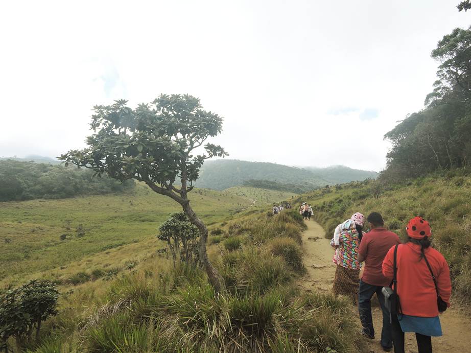
[[[43,321],[57,315],[59,292],[48,281],[32,280],[27,284],[5,291],[0,296],[0,343],[8,345],[15,337],[22,347],[31,341],[33,330],[39,339]]]

